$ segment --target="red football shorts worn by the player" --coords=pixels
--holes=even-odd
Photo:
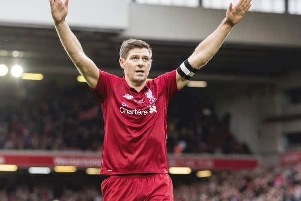
[[[149,175],[113,175],[101,184],[103,201],[172,201],[173,184],[165,173]]]

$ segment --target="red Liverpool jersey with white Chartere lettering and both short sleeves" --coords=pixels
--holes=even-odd
[[[178,91],[176,70],[147,81],[140,92],[99,70],[94,91],[105,131],[100,174],[167,173],[166,114]]]

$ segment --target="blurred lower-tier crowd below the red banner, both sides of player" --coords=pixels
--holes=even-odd
[[[100,189],[91,184],[81,183],[83,187],[75,190],[55,189],[56,184],[46,182],[33,186],[17,183],[10,188],[0,184],[0,201],[102,200]],[[223,171],[194,183],[173,178],[173,183],[175,201],[298,201],[301,200],[301,165]]]

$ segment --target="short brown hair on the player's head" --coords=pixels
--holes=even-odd
[[[152,57],[152,49],[150,48],[150,45],[146,43],[145,41],[138,40],[138,39],[128,39],[126,41],[123,41],[121,48],[120,48],[120,58],[126,59],[128,56],[128,52],[135,48],[146,48],[149,51],[150,57]]]

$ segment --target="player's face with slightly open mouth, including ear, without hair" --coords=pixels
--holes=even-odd
[[[127,80],[136,84],[142,84],[146,81],[152,59],[146,48],[135,48],[128,52],[126,59],[119,59],[121,68],[124,69],[124,75]]]

